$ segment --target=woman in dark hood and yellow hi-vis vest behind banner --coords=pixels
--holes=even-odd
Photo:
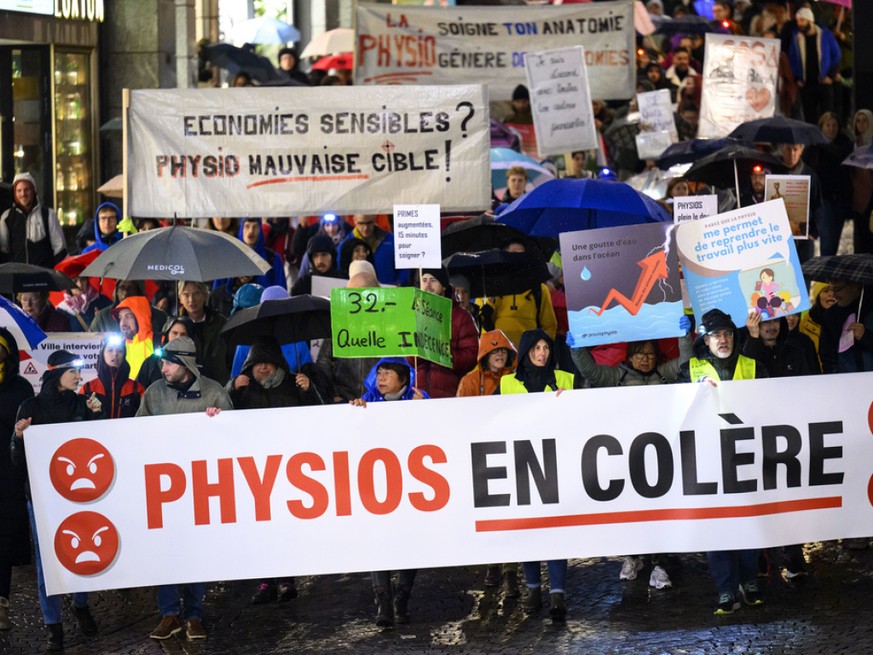
[[[556,369],[555,342],[542,328],[528,330],[521,335],[518,344],[518,365],[515,373],[500,378],[500,393],[537,393],[573,388],[573,374]],[[524,596],[524,611],[539,612],[543,607],[540,591],[540,562],[523,562],[524,581],[527,589]],[[553,623],[563,623],[567,618],[564,604],[564,583],[567,580],[567,560],[555,559],[546,563],[549,573],[549,591],[552,607],[549,614]]]

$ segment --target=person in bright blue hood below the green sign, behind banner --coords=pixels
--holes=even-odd
[[[370,370],[364,382],[367,391],[350,401],[354,407],[367,403],[394,400],[424,400],[428,398],[415,386],[415,370],[400,357],[384,357]],[[391,584],[391,571],[373,571],[373,593],[376,601],[376,625],[394,627],[409,623],[409,594],[415,582],[416,569],[398,571],[397,584]]]

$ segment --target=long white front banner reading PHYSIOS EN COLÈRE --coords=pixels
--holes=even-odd
[[[57,594],[869,536],[870,389],[873,373],[854,373],[115,419],[24,438]]]

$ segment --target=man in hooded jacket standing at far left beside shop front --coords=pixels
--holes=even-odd
[[[40,205],[30,173],[13,178],[12,201],[0,216],[0,263],[54,268],[67,256],[64,232],[55,210]]]

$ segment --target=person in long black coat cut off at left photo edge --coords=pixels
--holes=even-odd
[[[30,382],[18,374],[18,344],[0,327],[0,434],[11,435],[18,406],[33,398]],[[6,443],[5,441],[3,442]],[[9,623],[12,567],[30,563],[30,529],[24,498],[24,474],[12,466],[9,449],[0,447],[0,630]]]

